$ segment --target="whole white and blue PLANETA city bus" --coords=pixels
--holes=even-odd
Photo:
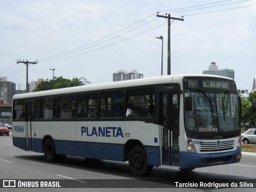
[[[128,161],[137,176],[191,171],[240,161],[240,118],[233,79],[158,76],[14,95],[13,145],[48,162]]]

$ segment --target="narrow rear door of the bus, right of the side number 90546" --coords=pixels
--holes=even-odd
[[[34,151],[34,103],[26,103],[26,132],[28,150]]]

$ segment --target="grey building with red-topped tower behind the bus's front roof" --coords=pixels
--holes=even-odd
[[[209,65],[208,70],[204,70],[202,74],[211,74],[211,75],[219,75],[224,77],[229,77],[235,79],[235,72],[232,69],[218,69],[218,66],[215,62],[212,62]]]

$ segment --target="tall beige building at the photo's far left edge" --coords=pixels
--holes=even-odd
[[[6,77],[0,77],[0,100],[3,103],[12,103],[15,88],[15,83],[8,81]]]

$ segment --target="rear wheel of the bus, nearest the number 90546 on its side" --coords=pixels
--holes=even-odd
[[[66,158],[66,155],[56,154],[53,140],[47,139],[44,142],[44,158],[47,162],[60,162]]]

